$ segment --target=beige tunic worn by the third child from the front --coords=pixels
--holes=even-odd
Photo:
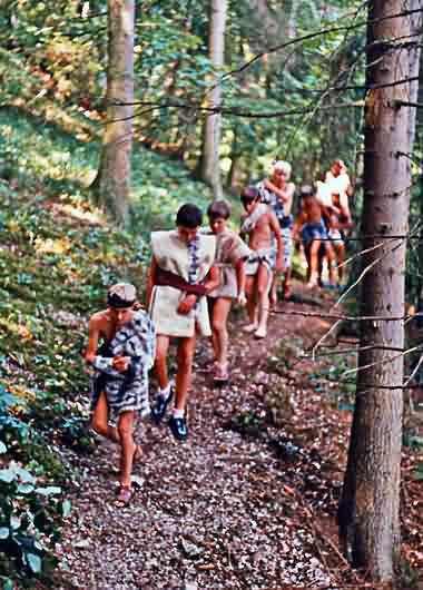
[[[206,235],[212,234],[205,229]],[[215,266],[219,269],[219,286],[208,294],[208,297],[236,298],[238,296],[238,282],[236,277],[236,264],[239,259],[247,259],[252,250],[245,242],[234,232],[226,229],[216,237]]]

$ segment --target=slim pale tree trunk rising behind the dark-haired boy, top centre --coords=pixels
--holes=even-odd
[[[219,69],[224,65],[225,56],[225,27],[226,0],[210,0],[210,32],[208,50],[213,67],[216,69],[214,77],[215,87],[209,95],[209,106],[219,107],[222,104],[222,85]],[[203,131],[203,151],[200,161],[200,177],[212,189],[215,199],[222,198],[222,176],[219,166],[220,146],[220,114],[208,115]]]

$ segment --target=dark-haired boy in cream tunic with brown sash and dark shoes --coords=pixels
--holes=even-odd
[[[168,424],[179,441],[188,435],[185,413],[196,334],[212,335],[205,295],[218,285],[217,268],[213,266],[216,240],[199,233],[201,220],[196,205],[183,205],[176,216],[176,229],[151,234],[147,303],[157,332],[155,367],[159,382],[151,417],[156,423],[161,421],[175,393],[175,409]],[[175,389],[167,371],[170,337],[178,338]]]

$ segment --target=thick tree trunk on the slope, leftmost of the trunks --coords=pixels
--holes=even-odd
[[[128,218],[134,107],[134,0],[108,1],[107,125],[92,185],[98,205]]]

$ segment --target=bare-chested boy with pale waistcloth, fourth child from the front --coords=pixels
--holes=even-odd
[[[247,307],[249,324],[244,328],[254,332],[256,338],[264,338],[267,334],[269,312],[269,291],[273,281],[272,238],[276,239],[275,269],[284,269],[284,245],[279,222],[273,210],[260,203],[260,195],[256,187],[243,190],[243,206],[246,216],[240,232],[248,234],[248,245],[253,250],[245,266]]]

